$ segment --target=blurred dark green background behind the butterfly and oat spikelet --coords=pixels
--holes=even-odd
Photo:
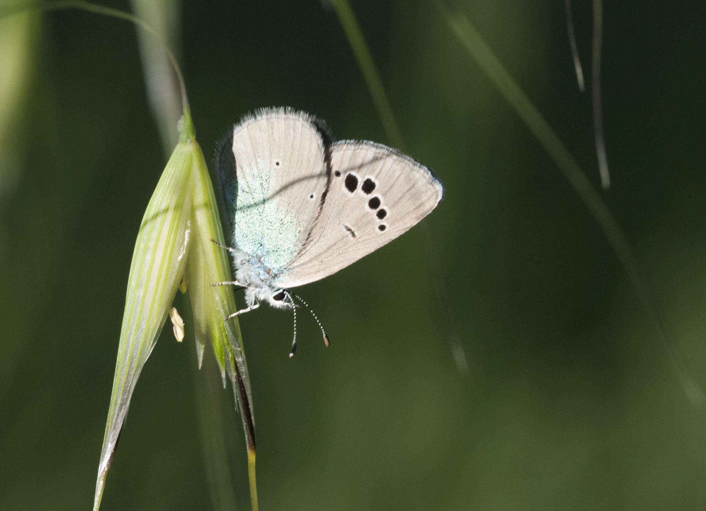
[[[172,6],[207,158],[241,115],[272,105],[321,116],[337,138],[389,143],[331,8]],[[426,220],[438,256],[417,227],[299,289],[329,349],[304,314],[291,360],[289,313],[242,317],[261,509],[706,509],[705,411],[556,164],[433,3],[352,8],[407,151],[445,184]],[[598,187],[563,2],[460,8]],[[588,72],[591,3],[573,15]],[[602,197],[702,385],[705,19],[698,1],[606,4],[602,65]],[[90,509],[133,244],[164,150],[133,25],[16,16],[0,22],[0,66],[0,509]],[[145,365],[104,511],[249,509],[232,392],[213,390],[219,413],[199,419],[213,354],[197,373],[188,300],[176,304],[186,340],[167,327]],[[215,464],[209,420],[224,434]]]

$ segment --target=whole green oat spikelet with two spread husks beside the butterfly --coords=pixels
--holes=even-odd
[[[213,343],[225,385],[227,375],[239,404],[254,466],[255,437],[247,366],[236,318],[232,287],[212,286],[230,280],[213,185],[188,111],[174,148],[152,194],[138,232],[126,294],[113,390],[103,438],[93,509],[97,511],[130,399],[145,361],[159,337],[180,284],[191,289],[199,365],[206,339]],[[186,277],[186,278],[184,278]],[[253,509],[257,509],[254,471]]]

